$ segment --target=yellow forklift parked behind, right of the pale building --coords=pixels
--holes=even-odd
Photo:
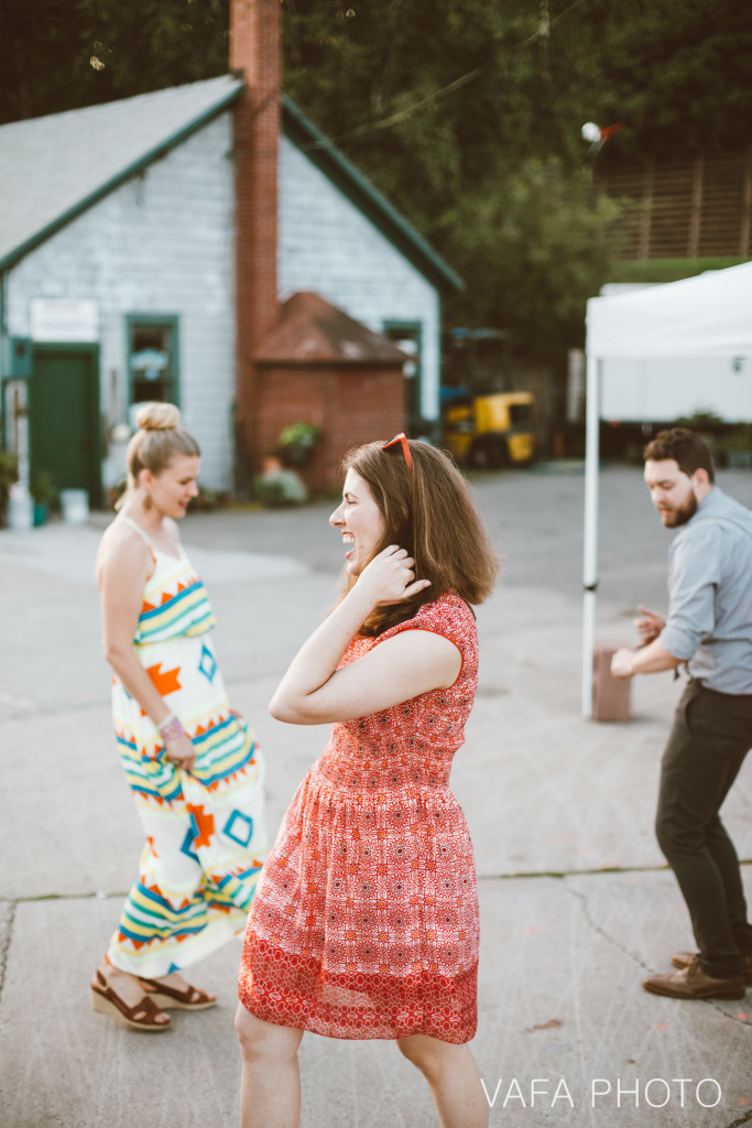
[[[463,382],[442,388],[444,446],[459,461],[478,469],[532,462],[538,447],[536,397],[531,391],[505,390],[507,334],[503,329],[452,329],[451,337],[454,374],[461,372]],[[501,361],[485,378],[478,373],[479,341],[502,345]]]

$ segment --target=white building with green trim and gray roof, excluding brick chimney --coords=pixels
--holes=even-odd
[[[5,443],[27,405],[32,474],[92,504],[122,477],[133,405],[151,398],[179,404],[202,484],[232,485],[245,90],[223,76],[0,127]],[[286,98],[278,153],[276,297],[315,290],[414,352],[408,416],[430,431],[441,290],[460,280]]]

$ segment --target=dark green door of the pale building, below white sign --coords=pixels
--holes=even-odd
[[[98,349],[36,345],[29,379],[32,476],[57,490],[86,490],[99,504]]]

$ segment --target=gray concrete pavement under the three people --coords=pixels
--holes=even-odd
[[[752,475],[720,484],[752,504]],[[680,1003],[640,979],[691,948],[653,836],[658,761],[681,690],[632,686],[632,720],[580,717],[582,476],[477,484],[505,554],[479,609],[481,676],[453,787],[481,906],[474,1043],[490,1125],[738,1128],[752,1123],[752,989]],[[328,509],[186,519],[209,584],[233,703],[268,764],[276,827],[326,730],[269,719],[285,662],[329,605],[342,548]],[[663,603],[669,537],[639,470],[602,478],[599,636],[631,641],[638,600]],[[108,715],[91,579],[106,519],[0,531],[0,1125],[231,1128],[239,942],[197,969],[220,1006],[174,1013],[161,1039],[89,1008],[92,968],[135,872],[141,836]],[[724,810],[752,898],[752,758]],[[303,1128],[428,1128],[433,1105],[391,1043],[303,1039]]]

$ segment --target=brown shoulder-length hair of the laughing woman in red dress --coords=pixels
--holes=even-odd
[[[362,635],[379,635],[410,619],[423,603],[455,591],[467,603],[481,603],[493,591],[498,554],[476,510],[467,482],[452,460],[435,447],[409,440],[412,469],[399,443],[357,447],[343,460],[343,470],[355,470],[368,483],[383,517],[386,530],[373,555],[388,545],[406,548],[415,559],[415,575],[431,587],[406,602],[378,607],[361,627]],[[355,579],[346,576],[345,592]]]

